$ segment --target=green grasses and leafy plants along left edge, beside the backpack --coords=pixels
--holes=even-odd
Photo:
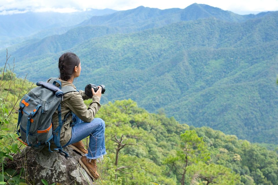
[[[25,79],[19,79],[14,74],[14,68],[8,64],[8,52],[6,63],[1,70],[0,76],[0,164],[1,176],[0,184],[25,185],[23,179],[24,169],[5,169],[7,161],[13,161],[13,154],[19,153],[17,134],[14,134],[15,121],[17,123],[17,106],[19,100],[30,90],[32,83]]]

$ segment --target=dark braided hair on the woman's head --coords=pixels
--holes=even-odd
[[[80,59],[74,53],[63,53],[59,58],[60,78],[64,81],[69,80],[73,73],[75,66],[79,66]]]

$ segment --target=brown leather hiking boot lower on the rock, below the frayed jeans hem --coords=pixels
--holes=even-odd
[[[87,171],[90,177],[92,177],[94,180],[98,179],[99,174],[96,171],[96,159],[87,159],[86,156],[82,156],[80,159],[78,159],[78,162]]]

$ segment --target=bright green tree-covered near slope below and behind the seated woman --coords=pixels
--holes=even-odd
[[[14,102],[15,94],[18,96],[23,79],[14,82],[15,87],[9,90],[6,101],[9,110],[12,107],[8,105]],[[28,91],[30,86],[30,82],[25,81],[22,92]],[[6,97],[8,88],[1,92],[1,97]],[[2,106],[0,116],[3,111]],[[14,110],[12,117],[17,117],[16,112]],[[96,184],[277,185],[278,154],[247,140],[238,140],[234,135],[209,127],[180,124],[162,111],[151,114],[131,99],[102,104],[96,115],[105,120],[107,151],[104,161],[98,164],[101,178]],[[2,145],[9,143],[3,134],[13,132],[14,122],[14,119],[10,125],[1,122]],[[88,144],[87,139],[84,142]],[[14,143],[11,143],[13,147],[1,147],[1,155],[7,152],[5,148],[13,151]],[[4,171],[8,172],[5,167]],[[24,177],[24,173],[21,176]],[[21,182],[25,182],[24,178]]]

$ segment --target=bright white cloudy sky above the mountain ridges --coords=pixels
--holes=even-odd
[[[66,13],[105,8],[129,10],[141,5],[159,9],[183,9],[193,3],[207,4],[242,15],[278,10],[278,0],[0,0],[0,15],[30,11]]]

